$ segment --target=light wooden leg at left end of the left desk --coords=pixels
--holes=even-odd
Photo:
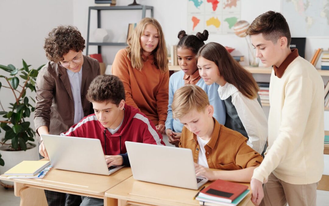
[[[44,190],[26,187],[22,183],[14,183],[14,194],[21,198],[20,206],[48,206]]]

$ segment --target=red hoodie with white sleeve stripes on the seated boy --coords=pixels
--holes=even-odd
[[[124,109],[122,125],[114,134],[111,134],[107,128],[103,127],[95,114],[91,114],[73,125],[67,132],[61,133],[61,135],[99,139],[106,155],[126,153],[125,141],[165,145],[162,141],[162,135],[157,132],[154,124],[145,114],[127,104],[125,104]],[[106,134],[106,153],[104,131]]]

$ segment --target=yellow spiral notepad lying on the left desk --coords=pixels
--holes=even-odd
[[[49,164],[50,161],[23,161],[5,172],[5,175],[34,176]]]

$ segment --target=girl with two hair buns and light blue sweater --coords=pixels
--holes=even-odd
[[[225,107],[217,93],[218,84],[205,84],[199,75],[195,60],[195,55],[199,48],[205,44],[204,41],[208,39],[208,35],[207,30],[204,30],[203,33],[198,32],[196,35],[187,35],[183,30],[178,33],[177,56],[178,64],[182,70],[172,74],[169,79],[168,115],[165,122],[169,142],[175,145],[178,145],[180,141],[183,124],[173,119],[171,103],[175,91],[185,84],[194,84],[201,87],[207,93],[210,104],[214,106],[215,119],[220,124],[225,124]]]

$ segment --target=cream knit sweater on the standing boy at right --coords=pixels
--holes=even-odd
[[[264,182],[271,172],[290,184],[311,184],[323,172],[324,89],[313,65],[295,58],[278,78],[271,74],[268,145],[253,178]]]

